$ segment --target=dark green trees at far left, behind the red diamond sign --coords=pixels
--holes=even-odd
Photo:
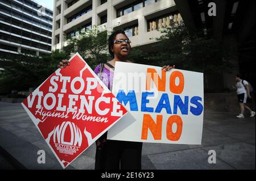
[[[55,51],[42,57],[26,55],[6,55],[1,57],[0,94],[9,94],[12,90],[26,91],[29,87],[38,87],[57,69],[60,60],[67,54]]]

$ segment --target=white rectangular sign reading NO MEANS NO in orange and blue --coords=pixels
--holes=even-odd
[[[116,62],[112,92],[135,121],[122,117],[108,139],[201,144],[203,82],[203,73]]]

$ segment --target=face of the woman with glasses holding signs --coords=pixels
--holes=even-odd
[[[119,33],[115,36],[114,42],[116,40],[129,40],[126,35]],[[112,51],[115,57],[127,57],[131,51],[130,44],[123,41],[122,43],[114,43],[112,47]]]

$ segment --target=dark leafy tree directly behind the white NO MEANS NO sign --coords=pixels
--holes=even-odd
[[[176,65],[179,69],[204,73],[205,88],[208,78],[232,70],[233,66],[225,54],[221,42],[205,37],[200,30],[193,31],[184,23],[161,30],[155,49],[149,59],[159,65]]]

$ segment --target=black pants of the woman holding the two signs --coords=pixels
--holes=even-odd
[[[97,147],[95,170],[141,170],[142,142],[107,140]]]

